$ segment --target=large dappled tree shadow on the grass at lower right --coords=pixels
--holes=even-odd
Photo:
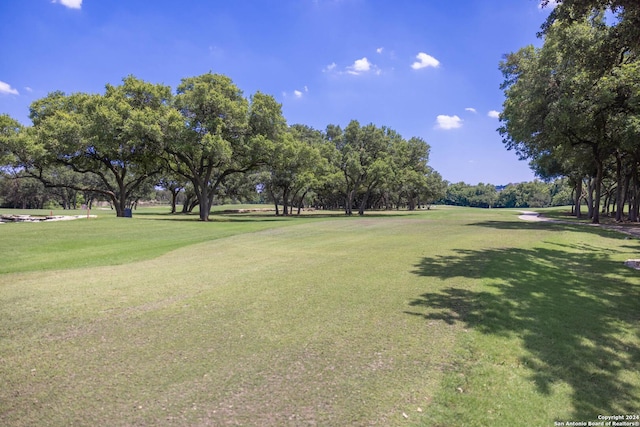
[[[629,252],[638,250],[636,244]],[[538,391],[550,394],[556,382],[570,385],[577,419],[635,413],[640,391],[627,378],[640,367],[640,287],[626,278],[640,273],[613,261],[616,251],[570,244],[426,257],[415,274],[492,284],[486,291],[424,293],[406,313],[519,337],[527,353],[521,363],[531,370]]]

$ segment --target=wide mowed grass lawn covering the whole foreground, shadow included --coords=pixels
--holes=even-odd
[[[517,215],[0,225],[0,425],[639,414],[640,242]]]

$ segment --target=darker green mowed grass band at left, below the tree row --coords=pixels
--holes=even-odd
[[[74,221],[3,224],[0,274],[119,265],[150,259],[194,243],[288,226],[322,218],[276,218],[262,215],[213,216],[211,222],[184,215],[113,214]]]

